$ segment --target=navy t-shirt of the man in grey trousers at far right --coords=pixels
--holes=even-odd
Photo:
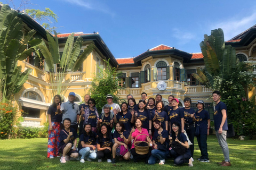
[[[227,114],[227,106],[225,103],[223,103],[222,101],[220,101],[214,109],[214,127],[215,127],[215,131],[218,131],[220,128],[220,124],[222,121],[222,109],[226,110],[226,114]],[[222,130],[228,130],[228,121],[226,118],[225,123],[223,124]]]

